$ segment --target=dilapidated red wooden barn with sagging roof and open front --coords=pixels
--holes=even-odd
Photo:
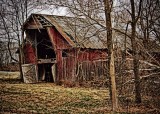
[[[23,25],[24,81],[104,80],[107,49],[103,32],[97,31],[85,19],[32,14]]]

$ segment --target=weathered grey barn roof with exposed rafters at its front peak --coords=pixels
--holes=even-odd
[[[31,14],[23,29],[30,19],[34,20],[37,29],[54,26],[73,47],[104,49],[107,46],[104,29],[84,18]]]

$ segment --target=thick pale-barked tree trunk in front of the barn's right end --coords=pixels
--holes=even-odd
[[[112,41],[112,22],[111,22],[111,6],[109,0],[104,0],[106,29],[107,29],[107,47],[108,47],[108,74],[110,79],[110,98],[112,102],[112,110],[118,108],[117,90],[115,82],[115,66],[114,66],[114,51]]]

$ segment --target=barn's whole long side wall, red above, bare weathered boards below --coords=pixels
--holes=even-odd
[[[105,83],[106,50],[78,49],[66,50],[62,60],[62,82],[83,83],[100,81]],[[77,55],[77,56],[76,56]]]

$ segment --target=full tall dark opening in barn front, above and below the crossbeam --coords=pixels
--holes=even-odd
[[[37,41],[37,63],[38,63],[38,80],[44,82],[55,82],[55,63],[56,54],[48,36],[46,29],[40,29],[36,32]]]

